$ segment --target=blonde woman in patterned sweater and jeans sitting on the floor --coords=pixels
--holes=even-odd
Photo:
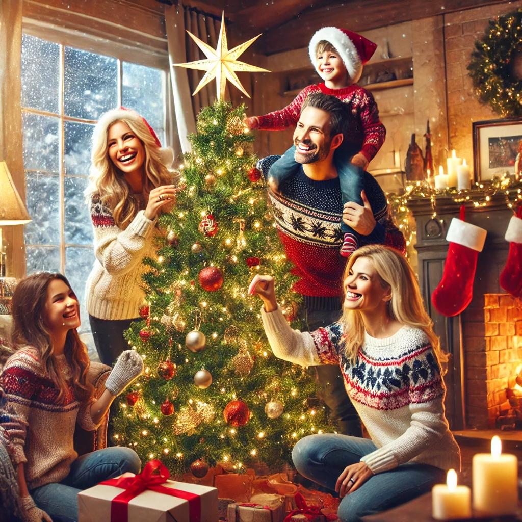
[[[257,275],[274,355],[303,366],[339,364],[350,400],[371,440],[310,435],[293,448],[296,469],[339,493],[342,522],[397,506],[460,469],[444,414],[445,362],[408,261],[382,245],[355,251],[343,275],[339,322],[292,330],[276,301],[274,278]]]

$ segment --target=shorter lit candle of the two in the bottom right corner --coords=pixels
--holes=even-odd
[[[457,473],[448,470],[446,484],[437,484],[431,490],[432,515],[435,520],[455,520],[471,517],[471,490],[457,485]]]

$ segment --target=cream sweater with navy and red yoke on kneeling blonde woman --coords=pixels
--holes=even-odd
[[[301,333],[280,307],[270,313],[263,307],[261,314],[276,357],[302,366],[340,365],[348,396],[378,448],[361,458],[373,473],[406,462],[460,470],[460,450],[444,415],[446,388],[421,329],[404,326],[386,339],[366,334],[353,364],[344,353],[341,323]]]

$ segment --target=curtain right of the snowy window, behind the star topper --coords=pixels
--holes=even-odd
[[[199,111],[216,100],[216,81],[212,80],[196,96],[191,96],[205,72],[197,69],[185,69],[184,67],[172,67],[172,64],[193,62],[205,58],[203,52],[199,50],[186,31],[190,31],[194,36],[215,49],[221,20],[216,20],[197,9],[183,6],[179,2],[177,5],[165,7],[165,26],[169,45],[172,96],[177,132],[183,152],[188,152],[190,151],[190,144],[186,136],[191,132],[196,132],[196,116]],[[230,99],[228,92],[225,93],[225,97]]]

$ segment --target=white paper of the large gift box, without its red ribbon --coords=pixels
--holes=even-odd
[[[201,497],[201,522],[218,522],[218,490],[168,480],[166,488]],[[111,501],[122,488],[98,484],[78,493],[78,522],[111,522]],[[128,502],[127,522],[190,522],[188,502],[175,496],[145,490]],[[118,522],[121,522],[118,520]]]

